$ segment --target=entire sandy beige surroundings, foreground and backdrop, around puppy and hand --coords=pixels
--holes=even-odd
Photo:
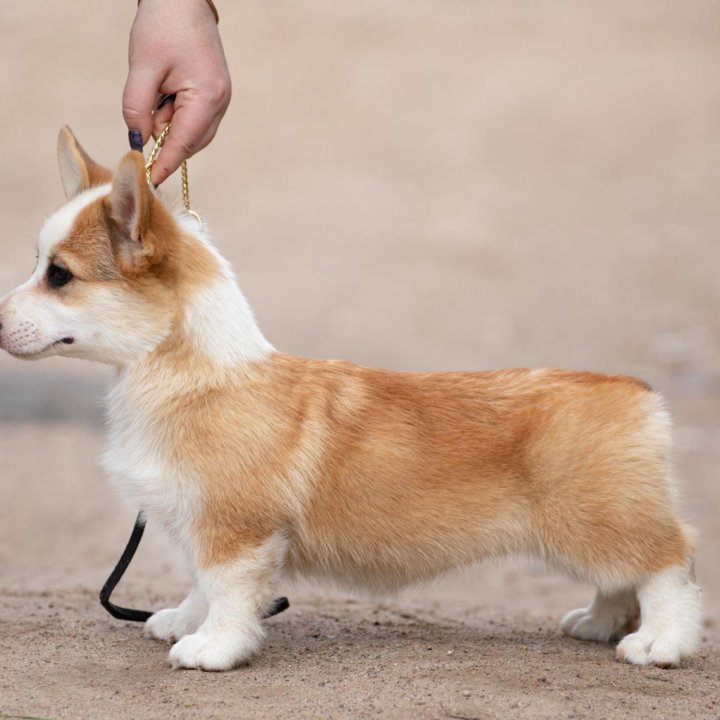
[[[191,190],[268,337],[397,369],[564,366],[661,389],[700,530],[700,653],[637,669],[562,637],[591,589],[516,559],[397,598],[286,588],[251,666],[171,672],[96,601],[135,510],[96,462],[108,373],[2,356],[0,717],[720,718],[717,3],[221,5],[234,101]],[[61,202],[58,128],[107,163],[125,150],[133,6],[2,3],[0,294]],[[117,601],[186,588],[150,527]]]

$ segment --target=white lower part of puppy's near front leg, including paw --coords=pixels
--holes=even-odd
[[[205,620],[170,650],[173,668],[229,670],[249,660],[262,644],[262,616],[272,602],[286,552],[274,535],[244,549],[231,562],[197,571],[197,588],[208,603]]]

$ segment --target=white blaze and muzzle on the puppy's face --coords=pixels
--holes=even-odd
[[[4,350],[28,359],[72,354],[69,340],[74,342],[77,309],[65,305],[48,288],[45,277],[55,249],[68,237],[80,213],[109,191],[108,184],[82,192],[45,221],[35,271],[0,301],[0,347]]]

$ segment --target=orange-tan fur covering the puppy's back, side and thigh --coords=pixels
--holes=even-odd
[[[158,416],[203,482],[206,566],[276,530],[296,569],[370,585],[506,552],[612,581],[689,552],[647,428],[656,399],[632,379],[277,354],[207,385]]]

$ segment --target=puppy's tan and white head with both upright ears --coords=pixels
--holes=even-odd
[[[0,301],[0,347],[27,359],[126,365],[170,333],[191,274],[185,266],[194,263],[197,278],[217,274],[217,263],[208,252],[184,251],[187,240],[148,187],[140,153],[112,173],[63,128],[58,160],[67,203],[40,231],[30,279]]]

